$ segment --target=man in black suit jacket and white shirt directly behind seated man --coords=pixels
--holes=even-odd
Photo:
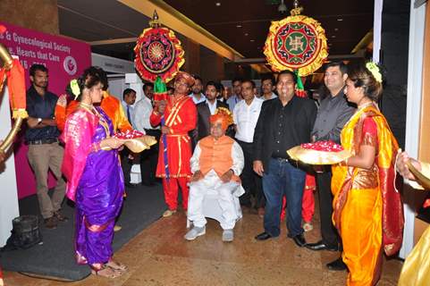
[[[193,141],[197,143],[199,139],[209,135],[209,116],[215,114],[216,108],[224,107],[229,109],[229,105],[217,100],[221,94],[221,85],[215,81],[208,81],[205,90],[206,101],[196,105],[197,107],[197,127],[193,133]]]

